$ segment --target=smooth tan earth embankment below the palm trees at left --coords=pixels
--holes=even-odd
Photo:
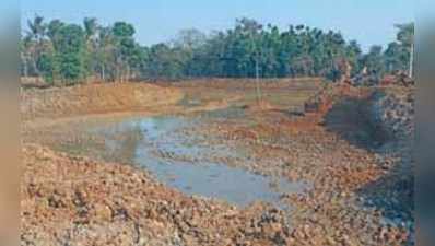
[[[21,113],[24,119],[145,110],[176,104],[177,89],[145,83],[90,84],[73,87],[24,90]]]

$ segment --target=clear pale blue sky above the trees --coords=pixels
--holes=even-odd
[[[290,24],[340,31],[364,50],[395,40],[397,23],[414,21],[413,0],[21,0],[25,26],[35,14],[46,20],[82,23],[98,19],[107,25],[134,25],[142,45],[171,40],[184,28],[205,33],[231,28],[235,20],[251,17],[285,30]]]

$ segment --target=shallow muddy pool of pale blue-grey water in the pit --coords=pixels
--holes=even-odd
[[[183,117],[130,118],[92,131],[104,136],[106,151],[127,156],[161,183],[187,195],[222,199],[238,207],[254,201],[281,207],[282,194],[303,190],[303,184],[225,165],[228,160],[247,156],[225,145],[207,144],[203,138],[185,130],[197,124]]]

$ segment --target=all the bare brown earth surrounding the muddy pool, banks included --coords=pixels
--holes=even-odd
[[[263,83],[267,107],[256,106],[251,81],[24,91],[22,245],[413,245],[413,130],[400,141],[387,134],[388,126],[409,128],[413,121],[412,103],[388,98],[413,92],[318,92],[319,83]],[[373,91],[384,94],[372,97]],[[316,93],[328,98],[314,98],[319,110],[294,114]],[[244,116],[215,116],[225,107],[242,108]],[[249,162],[228,165],[308,180],[313,188],[283,198],[294,208],[291,214],[261,203],[237,209],[187,197],[145,171],[49,149],[81,138],[74,130],[50,134],[66,129],[66,121],[110,112],[201,117],[202,127],[186,133],[249,150]],[[408,119],[377,117],[385,112]]]

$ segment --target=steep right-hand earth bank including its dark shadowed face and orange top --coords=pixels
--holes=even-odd
[[[386,213],[412,214],[414,87],[390,84],[340,91],[338,86],[322,91],[313,108],[324,115],[324,125],[330,132],[376,153],[376,165],[385,171],[377,180],[361,187],[360,194],[371,197]]]

